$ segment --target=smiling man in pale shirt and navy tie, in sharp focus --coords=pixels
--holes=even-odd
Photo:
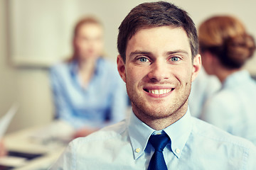
[[[251,142],[190,115],[201,56],[186,11],[140,4],[119,26],[117,47],[129,117],[71,142],[52,169],[256,169]]]

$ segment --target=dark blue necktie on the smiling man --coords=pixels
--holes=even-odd
[[[155,152],[150,159],[148,170],[167,170],[163,151],[169,141],[170,138],[166,134],[151,135],[149,142],[154,147]]]

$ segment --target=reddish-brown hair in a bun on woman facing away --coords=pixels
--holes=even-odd
[[[214,16],[198,29],[199,49],[218,57],[223,66],[238,69],[255,52],[255,40],[232,16]]]

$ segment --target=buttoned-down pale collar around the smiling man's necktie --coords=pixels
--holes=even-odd
[[[181,157],[183,147],[191,134],[191,128],[191,114],[188,109],[186,114],[183,115],[180,120],[164,129],[164,132],[166,132],[171,139],[171,151],[178,158]],[[150,128],[148,125],[139,120],[139,118],[137,118],[133,112],[131,113],[128,120],[128,132],[132,144],[134,159],[139,158],[144,153],[149,137],[155,131],[156,130]]]

